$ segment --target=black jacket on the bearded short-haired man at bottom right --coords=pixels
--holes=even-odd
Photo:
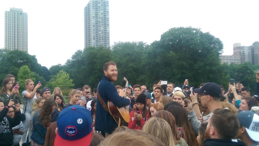
[[[240,140],[230,139],[230,140],[222,140],[222,139],[206,139],[204,142],[204,146],[246,146]]]

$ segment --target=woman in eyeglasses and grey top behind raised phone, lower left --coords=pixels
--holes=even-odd
[[[9,111],[6,114],[7,116],[13,118],[15,117],[15,109],[13,106],[11,106],[9,108]],[[20,141],[21,141],[21,135],[24,134],[24,126],[23,126],[23,122],[20,122],[19,125],[15,126],[12,128],[13,130],[13,144],[12,145],[19,145]]]

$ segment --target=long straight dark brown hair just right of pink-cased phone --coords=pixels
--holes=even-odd
[[[191,123],[188,120],[188,115],[182,106],[170,105],[167,109],[176,120],[177,127],[183,128],[183,139],[187,142],[188,145],[197,146],[196,135],[192,129]]]

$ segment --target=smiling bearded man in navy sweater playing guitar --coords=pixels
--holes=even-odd
[[[115,86],[112,83],[117,81],[118,77],[116,64],[114,62],[107,62],[104,64],[103,70],[103,79],[100,81],[97,89],[101,99],[103,99],[106,105],[108,100],[110,100],[117,107],[130,105],[130,99],[119,96]],[[130,89],[126,89],[126,93],[127,95],[130,95]],[[114,120],[110,113],[104,109],[98,98],[96,102],[96,128],[104,131],[105,136],[108,136],[116,127],[118,127],[118,123]]]

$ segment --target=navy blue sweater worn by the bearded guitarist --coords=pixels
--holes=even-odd
[[[119,96],[115,86],[108,78],[104,75],[103,79],[99,83],[98,91],[103,101],[106,103],[110,100],[117,107],[124,107],[130,105],[130,99]],[[117,122],[113,117],[104,110],[102,104],[97,98],[96,102],[96,128],[106,133],[111,134],[113,130],[118,127]]]

